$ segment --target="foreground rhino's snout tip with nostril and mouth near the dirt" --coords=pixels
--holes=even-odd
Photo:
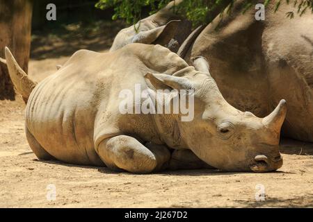
[[[257,173],[275,171],[282,167],[282,156],[267,157],[266,155],[256,155],[250,169]]]

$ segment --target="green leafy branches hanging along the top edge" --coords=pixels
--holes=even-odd
[[[125,19],[129,24],[136,24],[141,19],[144,7],[150,7],[150,14],[166,6],[171,0],[99,0],[96,7],[102,10],[114,8],[115,14],[112,19]],[[193,22],[195,26],[198,24],[207,24],[211,22],[210,12],[223,12],[227,5],[232,7],[236,0],[184,0],[179,6],[175,7],[175,12],[185,15],[185,17]],[[278,10],[282,1],[293,3],[296,12],[303,15],[307,10],[313,13],[313,0],[264,0],[267,6],[270,1],[275,1],[275,11]],[[252,0],[246,0],[243,12],[246,12],[253,6]],[[230,9],[229,8],[229,9]],[[230,11],[230,10],[229,10]],[[213,13],[214,14],[214,13]],[[293,18],[294,11],[287,12],[287,17]]]

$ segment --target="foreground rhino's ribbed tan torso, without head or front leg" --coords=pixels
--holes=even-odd
[[[147,114],[122,115],[119,93],[147,88],[147,72],[173,74],[188,67],[161,46],[134,44],[113,53],[81,50],[56,74],[40,82],[26,105],[26,130],[58,160],[103,164],[97,145],[113,135],[140,135],[162,144]]]

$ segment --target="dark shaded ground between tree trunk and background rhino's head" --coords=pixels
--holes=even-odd
[[[110,49],[115,35],[127,26],[123,22],[77,22],[57,28],[34,31],[31,37],[31,59],[44,60],[70,56],[79,49],[104,51]]]

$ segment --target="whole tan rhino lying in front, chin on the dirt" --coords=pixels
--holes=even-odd
[[[110,53],[81,50],[38,85],[8,48],[6,61],[17,92],[27,101],[27,140],[41,160],[150,173],[173,163],[176,169],[186,168],[188,162],[180,160],[195,160],[195,153],[225,171],[264,172],[282,166],[278,143],[285,101],[263,119],[236,110],[220,94],[204,58],[188,66],[163,46],[147,44]],[[122,114],[119,94],[134,91],[134,85],[152,94],[186,89],[194,96],[194,118],[181,121],[180,111]]]

